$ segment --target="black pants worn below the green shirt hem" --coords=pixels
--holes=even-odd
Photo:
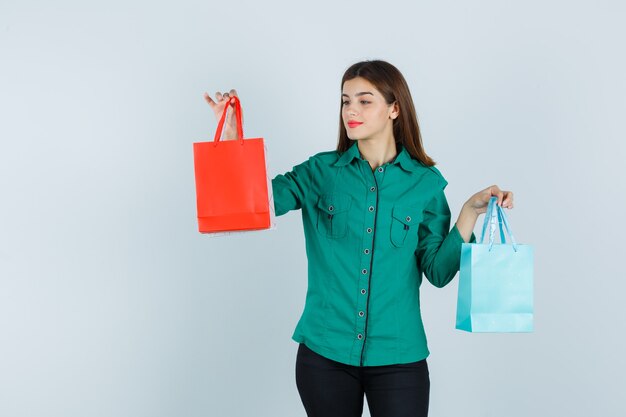
[[[363,394],[372,417],[426,417],[430,379],[426,359],[387,366],[351,366],[300,343],[296,385],[309,417],[360,417]]]

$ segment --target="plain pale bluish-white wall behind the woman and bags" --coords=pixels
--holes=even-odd
[[[305,416],[300,215],[197,232],[202,94],[238,89],[273,177],[334,149],[341,75],[379,58],[411,87],[453,216],[511,189],[536,252],[532,334],[457,331],[457,280],[422,287],[430,415],[623,416],[625,12],[0,0],[0,415]]]

